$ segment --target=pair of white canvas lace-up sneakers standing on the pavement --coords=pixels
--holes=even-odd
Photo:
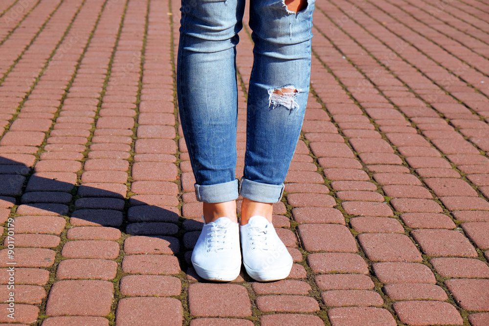
[[[245,225],[227,217],[205,223],[192,253],[197,274],[209,281],[233,281],[243,264],[256,281],[276,281],[289,276],[292,257],[277,236],[273,224],[263,216],[253,216]]]

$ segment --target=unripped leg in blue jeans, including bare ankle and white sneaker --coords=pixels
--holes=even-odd
[[[200,277],[232,281],[241,270],[236,218],[237,33],[244,0],[182,0],[178,108],[204,226],[191,261]]]

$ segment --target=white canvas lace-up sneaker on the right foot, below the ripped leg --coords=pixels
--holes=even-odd
[[[256,281],[283,280],[292,269],[292,256],[277,236],[273,224],[263,216],[253,216],[240,226],[243,264]]]

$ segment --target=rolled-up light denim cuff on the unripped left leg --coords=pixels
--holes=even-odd
[[[218,183],[215,185],[198,185],[194,184],[195,197],[198,201],[206,203],[222,203],[225,201],[235,200],[239,196],[239,180]]]

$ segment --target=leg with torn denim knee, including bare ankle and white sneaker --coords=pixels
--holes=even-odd
[[[248,275],[286,278],[292,257],[271,223],[299,139],[309,93],[314,0],[251,0],[254,62],[241,180],[241,247]]]

